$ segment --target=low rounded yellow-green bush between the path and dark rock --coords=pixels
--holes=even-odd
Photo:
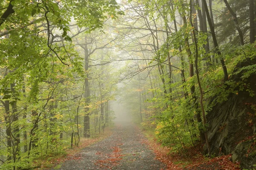
[[[195,134],[198,130],[192,125],[196,122],[193,119],[195,110],[187,107],[183,99],[172,104],[172,111],[166,109],[156,122],[155,134],[163,146],[172,147],[172,151],[184,151],[191,147],[193,142],[198,140]]]

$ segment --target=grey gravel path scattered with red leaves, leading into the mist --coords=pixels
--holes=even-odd
[[[145,140],[136,126],[116,122],[111,136],[85,147],[79,159],[64,162],[59,170],[164,170]]]

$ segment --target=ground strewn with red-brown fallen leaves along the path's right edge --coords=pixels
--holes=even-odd
[[[166,164],[165,170],[240,170],[239,162],[233,163],[231,155],[208,158],[202,154],[201,144],[186,148],[186,152],[172,153],[171,148],[162,147],[152,133],[144,131],[148,140],[144,143],[156,154],[157,160]]]

